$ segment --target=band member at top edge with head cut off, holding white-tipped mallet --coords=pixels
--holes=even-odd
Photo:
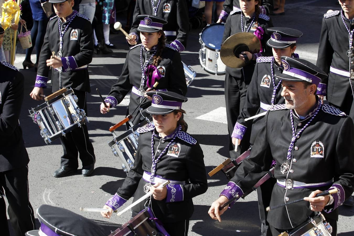
[[[130,45],[136,45],[139,41],[138,27],[140,20],[138,15],[152,15],[165,19],[163,30],[166,42],[178,52],[185,50],[189,31],[188,7],[186,1],[181,0],[136,0],[133,13],[132,28],[130,35],[132,40],[127,41]]]

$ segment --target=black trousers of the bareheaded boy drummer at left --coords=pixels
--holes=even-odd
[[[84,109],[87,115],[86,92],[74,90],[74,93],[79,99],[79,107]],[[75,128],[64,137],[60,137],[60,142],[64,149],[64,155],[61,157],[61,166],[77,169],[79,167],[79,154],[82,167],[95,163],[96,157],[86,125]]]

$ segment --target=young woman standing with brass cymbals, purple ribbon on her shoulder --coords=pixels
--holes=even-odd
[[[272,27],[270,18],[260,12],[260,1],[258,0],[240,0],[240,7],[242,11],[232,11],[225,23],[225,31],[223,41],[229,36],[240,32],[249,32],[257,35],[261,40],[261,53],[252,54],[251,52],[242,52],[250,61],[243,68],[226,67],[225,75],[225,102],[226,102],[226,116],[229,131],[229,150],[230,157],[235,158],[242,151],[248,149],[248,145],[242,147],[242,150],[235,152],[235,147],[232,144],[231,134],[237,118],[244,107],[247,87],[250,84],[253,70],[255,69],[256,59],[259,56],[271,55],[272,50],[265,44],[270,38],[267,28]],[[240,55],[240,58],[245,58]]]

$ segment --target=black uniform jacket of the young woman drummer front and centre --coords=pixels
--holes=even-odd
[[[139,136],[139,145],[135,156],[134,167],[130,169],[123,185],[117,191],[117,194],[124,199],[128,199],[134,195],[135,201],[145,194],[143,188],[148,182],[142,178],[142,175],[144,171],[151,173],[152,169],[152,132],[156,133],[156,131],[150,131],[141,133]],[[189,134],[184,133],[183,136],[188,137]],[[155,217],[161,220],[162,223],[189,219],[194,211],[192,198],[203,194],[207,190],[203,151],[199,143],[196,143],[195,139],[195,144],[188,142],[188,140],[193,139],[192,136],[189,136],[189,138],[185,140],[177,137],[169,147],[169,150],[162,155],[160,161],[157,163],[157,175],[165,179],[187,182],[187,184],[182,185],[183,201],[166,202],[166,199],[157,201],[151,197],[152,210]],[[172,138],[163,139],[161,137],[154,137],[155,158],[160,155],[158,150],[164,150],[171,140]],[[173,148],[173,144],[178,146],[177,151],[174,153],[175,155],[169,154]],[[144,209],[144,203],[143,201],[136,207],[133,207],[133,211],[142,211]]]

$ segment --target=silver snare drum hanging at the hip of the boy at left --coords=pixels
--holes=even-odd
[[[29,110],[46,144],[89,122],[85,111],[79,108],[78,98],[72,88],[62,89],[53,94],[54,98]]]

